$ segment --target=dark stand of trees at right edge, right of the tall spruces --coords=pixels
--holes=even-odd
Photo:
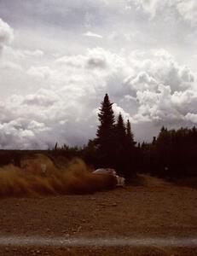
[[[181,127],[177,131],[162,127],[152,143],[142,143],[142,166],[159,177],[197,175],[197,129]]]

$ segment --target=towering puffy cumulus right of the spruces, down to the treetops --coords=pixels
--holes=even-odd
[[[186,125],[187,114],[197,109],[194,73],[163,49],[133,52],[130,66],[133,70],[125,86],[127,94],[136,97],[134,122]]]

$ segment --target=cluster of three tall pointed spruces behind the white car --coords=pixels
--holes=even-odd
[[[122,114],[119,113],[115,124],[113,103],[109,101],[107,94],[101,102],[98,118],[100,125],[96,132],[94,143],[97,151],[97,161],[103,167],[112,167],[119,174],[126,177],[127,181],[135,174],[136,148],[130,122],[125,127]]]

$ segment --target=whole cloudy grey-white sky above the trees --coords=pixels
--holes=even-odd
[[[196,0],[0,0],[0,148],[83,145],[107,93],[137,142],[197,125]]]

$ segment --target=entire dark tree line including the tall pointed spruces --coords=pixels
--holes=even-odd
[[[115,168],[130,181],[136,172],[149,172],[159,177],[196,176],[197,129],[195,127],[168,130],[162,127],[152,143],[134,140],[130,120],[119,113],[115,119],[113,103],[106,94],[98,113],[96,138],[82,148],[57,144],[55,154],[68,158],[81,157],[95,168]]]

